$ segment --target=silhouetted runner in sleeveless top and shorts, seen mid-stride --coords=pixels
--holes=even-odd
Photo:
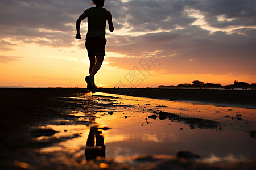
[[[89,76],[85,77],[87,89],[96,92],[94,76],[100,70],[105,56],[106,45],[106,21],[109,24],[109,31],[114,31],[111,13],[103,8],[105,0],[92,0],[96,7],[91,7],[84,11],[76,21],[76,39],[81,39],[80,24],[88,18],[88,31],[86,34],[85,47],[90,60]],[[95,57],[96,56],[96,57]]]

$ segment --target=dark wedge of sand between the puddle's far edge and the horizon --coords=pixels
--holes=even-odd
[[[256,109],[256,90],[99,88],[99,92]]]

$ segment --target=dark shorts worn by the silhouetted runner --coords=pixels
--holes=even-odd
[[[97,53],[105,56],[106,39],[102,37],[88,37],[85,40],[85,47],[88,56],[95,56]]]

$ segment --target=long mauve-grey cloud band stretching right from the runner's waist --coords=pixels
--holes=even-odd
[[[254,31],[243,29],[242,32],[253,34]],[[242,53],[245,56],[254,56],[255,39],[251,36],[239,33],[227,34],[226,32],[214,32],[210,34],[197,26],[185,29],[148,33],[140,36],[112,36],[108,38],[108,50],[126,54],[129,56],[141,55],[142,52],[160,51],[162,56],[173,53],[189,53],[189,56],[200,57],[208,54],[230,54]],[[246,49],[246,50],[244,50]],[[204,57],[204,56],[201,56]],[[216,56],[218,57],[218,56]]]

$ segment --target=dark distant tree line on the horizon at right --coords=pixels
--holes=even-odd
[[[246,82],[238,82],[237,80],[234,81],[234,84],[222,86],[221,84],[217,83],[204,83],[199,80],[195,80],[192,82],[192,84],[185,83],[185,84],[178,84],[177,86],[171,85],[171,86],[164,86],[160,85],[158,88],[226,88],[226,89],[232,89],[232,88],[256,88],[256,83],[248,84]]]

